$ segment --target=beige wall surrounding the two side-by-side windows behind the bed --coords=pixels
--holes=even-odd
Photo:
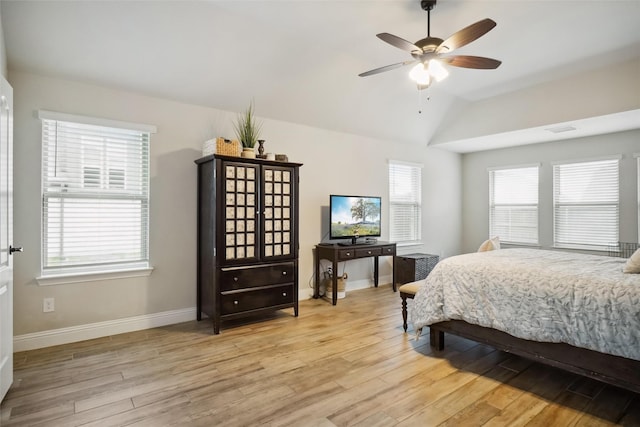
[[[622,154],[620,162],[620,240],[638,240],[638,184],[635,153],[640,130],[465,154],[462,157],[463,252],[475,251],[489,235],[487,168],[539,162],[540,246],[553,245],[553,168],[551,162]],[[613,242],[612,242],[613,243]]]

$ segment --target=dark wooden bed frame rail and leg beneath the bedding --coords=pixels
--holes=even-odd
[[[459,335],[557,368],[640,393],[640,361],[564,343],[516,338],[496,329],[449,320],[429,326],[431,346],[444,349],[444,333]]]

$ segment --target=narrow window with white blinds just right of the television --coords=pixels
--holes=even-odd
[[[389,238],[419,242],[421,237],[422,165],[389,161]]]

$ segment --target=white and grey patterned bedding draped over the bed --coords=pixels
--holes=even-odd
[[[413,326],[464,320],[640,360],[640,275],[625,261],[539,249],[446,258],[415,295]]]

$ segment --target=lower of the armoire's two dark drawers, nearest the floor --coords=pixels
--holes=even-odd
[[[222,315],[241,313],[255,309],[293,304],[293,284],[270,286],[247,291],[223,292]]]

